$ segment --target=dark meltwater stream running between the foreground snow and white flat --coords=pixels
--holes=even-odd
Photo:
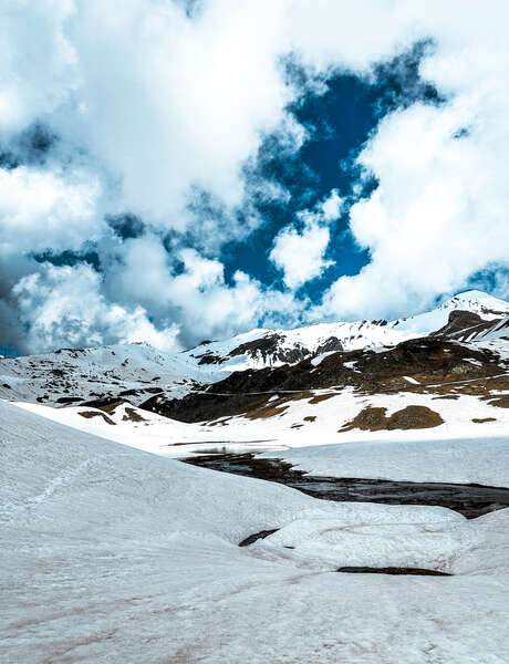
[[[391,481],[311,477],[277,459],[253,454],[209,454],[184,459],[187,464],[284,484],[325,500],[385,502],[387,505],[439,505],[474,519],[509,507],[509,489],[479,485]]]

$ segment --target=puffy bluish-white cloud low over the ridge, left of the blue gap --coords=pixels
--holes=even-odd
[[[175,270],[154,235],[118,246],[116,258],[103,283],[107,300],[123,307],[139,303],[157,326],[175,321],[186,346],[237,334],[260,320],[291,324],[302,308],[291,295],[263,288],[242,271],[227,283],[224,264],[195,249],[179,251],[181,268]]]

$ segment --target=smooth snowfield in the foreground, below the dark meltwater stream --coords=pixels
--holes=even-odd
[[[509,510],[332,504],[0,423],[2,663],[509,662]],[[455,575],[334,571],[363,564]]]

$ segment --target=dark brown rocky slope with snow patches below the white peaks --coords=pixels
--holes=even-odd
[[[336,352],[295,365],[236,372],[205,392],[173,400],[154,395],[141,407],[181,422],[202,422],[257,411],[262,415],[263,409],[332,387],[363,395],[404,391],[496,400],[509,387],[508,369],[505,355],[495,350],[428,336],[392,349]]]

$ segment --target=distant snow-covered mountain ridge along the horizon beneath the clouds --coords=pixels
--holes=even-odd
[[[420,336],[443,336],[496,349],[509,303],[480,291],[455,295],[437,309],[395,321],[318,323],[295,330],[257,329],[225,341],[204,341],[181,353],[147,344],[61,349],[0,359],[0,398],[53,405],[125,398],[138,405],[164,394],[179,398],[247,369],[318,362],[334,352],[387,349]],[[495,349],[495,350],[496,350]]]

